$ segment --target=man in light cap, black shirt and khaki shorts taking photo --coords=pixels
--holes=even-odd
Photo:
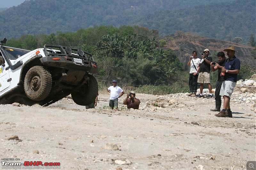
[[[207,96],[207,99],[212,98],[212,86],[211,86],[211,81],[210,81],[210,71],[211,71],[211,62],[212,62],[212,57],[209,55],[210,51],[209,49],[205,49],[202,53],[202,60],[199,63],[199,75],[197,82],[200,83],[200,94],[197,95],[196,97],[203,97],[203,88],[204,88],[204,83],[208,85],[209,89],[209,95]]]

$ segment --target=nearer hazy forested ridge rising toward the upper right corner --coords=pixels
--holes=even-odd
[[[157,11],[154,15],[140,18],[135,24],[158,29],[162,35],[181,30],[221,40],[241,37],[245,43],[251,33],[255,35],[255,22],[255,0],[236,0],[200,5],[190,10]]]

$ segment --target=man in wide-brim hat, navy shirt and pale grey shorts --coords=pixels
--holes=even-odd
[[[228,46],[223,51],[227,52],[228,59],[225,63],[225,67],[221,69],[222,73],[225,73],[224,81],[222,81],[220,96],[223,96],[224,104],[220,113],[215,114],[217,117],[233,117],[230,110],[230,97],[236,86],[237,74],[240,70],[240,60],[236,58],[234,46]]]

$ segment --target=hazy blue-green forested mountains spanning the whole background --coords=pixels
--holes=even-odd
[[[0,37],[71,32],[94,25],[139,25],[161,36],[176,31],[248,42],[255,0],[27,0],[0,12]]]

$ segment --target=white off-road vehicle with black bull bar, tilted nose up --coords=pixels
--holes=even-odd
[[[89,105],[98,94],[98,72],[92,54],[68,46],[44,45],[33,51],[0,42],[0,104],[47,106],[71,94],[76,104]]]

